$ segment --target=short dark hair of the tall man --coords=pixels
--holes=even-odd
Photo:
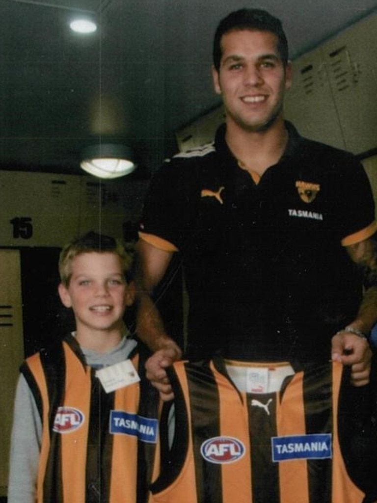
[[[268,31],[277,37],[277,50],[284,66],[288,62],[288,42],[281,21],[262,9],[240,9],[231,12],[217,26],[213,39],[213,65],[218,71],[221,61],[221,38],[225,33],[240,30]]]

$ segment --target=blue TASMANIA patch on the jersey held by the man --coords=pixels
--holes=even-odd
[[[272,461],[326,459],[332,457],[330,433],[273,437]]]

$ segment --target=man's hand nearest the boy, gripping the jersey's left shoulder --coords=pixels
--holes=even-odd
[[[173,400],[174,394],[166,368],[182,356],[180,348],[172,341],[165,348],[156,351],[145,363],[146,377],[160,392],[163,401]]]

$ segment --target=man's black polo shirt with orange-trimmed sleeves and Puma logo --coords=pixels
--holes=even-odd
[[[361,278],[343,245],[375,231],[368,179],[353,155],[286,127],[284,155],[258,184],[221,126],[214,144],[173,157],[150,185],[141,235],[182,254],[188,356],[328,359],[356,315]]]

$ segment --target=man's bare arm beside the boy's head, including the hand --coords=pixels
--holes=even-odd
[[[165,368],[179,360],[182,351],[165,331],[160,312],[153,301],[153,292],[163,279],[173,252],[140,239],[136,253],[136,329],[138,337],[155,352],[146,362],[146,376],[160,391],[163,400],[171,400],[173,394]]]

